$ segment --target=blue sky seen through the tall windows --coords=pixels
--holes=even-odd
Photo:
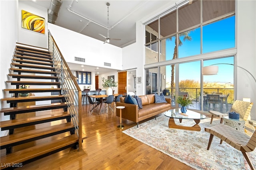
[[[178,57],[188,57],[200,54],[200,28],[196,28],[189,32],[192,37],[191,41],[180,37],[182,45],[179,46]],[[216,21],[202,28],[202,53],[209,53],[213,51],[229,49],[235,47],[235,17],[231,16],[224,20]],[[166,60],[170,60],[174,53],[175,38],[166,41]],[[230,63],[234,64],[234,56],[222,59],[211,59],[204,61],[204,66],[209,66],[216,63]],[[217,75],[204,76],[204,82],[230,82],[234,84],[234,66],[227,64],[220,64]],[[166,66],[166,82],[170,82],[171,67]],[[193,79],[200,82],[200,61],[182,63],[179,65],[180,80]],[[169,75],[168,75],[169,74]]]

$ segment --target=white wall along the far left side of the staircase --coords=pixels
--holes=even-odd
[[[14,88],[6,83],[11,80],[7,74],[9,73],[10,63],[12,63],[12,55],[14,52],[17,27],[18,27],[18,1],[1,0],[0,1],[0,98],[11,97],[11,94],[4,92],[3,89]],[[0,108],[9,107],[6,101],[0,103]],[[10,116],[0,115],[1,121],[10,119]],[[7,131],[1,131],[1,136]]]

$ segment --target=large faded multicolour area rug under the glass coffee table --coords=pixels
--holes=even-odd
[[[220,123],[219,119],[212,124],[210,118],[202,119],[199,123],[201,131],[170,129],[168,121],[168,117],[161,115],[156,120],[151,119],[141,123],[138,128],[135,126],[123,133],[194,169],[250,170],[242,153],[225,142],[220,145],[218,137],[214,137],[210,149],[207,150],[210,133],[205,132],[204,127]],[[175,122],[180,124],[178,119]],[[182,125],[194,124],[194,120],[182,121]],[[246,128],[249,135],[254,131],[254,127],[251,128]],[[256,166],[256,151],[248,152],[248,155],[252,164]]]

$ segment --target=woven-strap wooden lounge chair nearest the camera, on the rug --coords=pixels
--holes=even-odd
[[[204,130],[210,133],[207,150],[210,149],[212,139],[214,136],[216,136],[220,138],[220,144],[222,144],[222,141],[225,141],[230,146],[240,150],[250,168],[254,170],[254,166],[252,165],[247,152],[252,152],[256,148],[256,130],[251,137],[234,129],[233,127],[224,124],[206,127]]]

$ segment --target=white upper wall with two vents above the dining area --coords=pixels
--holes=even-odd
[[[120,47],[108,43],[103,44],[103,41],[51,23],[48,23],[48,28],[66,62],[122,69],[122,49]],[[84,58],[85,63],[74,61],[74,57]],[[111,63],[111,66],[104,66],[104,62]]]

